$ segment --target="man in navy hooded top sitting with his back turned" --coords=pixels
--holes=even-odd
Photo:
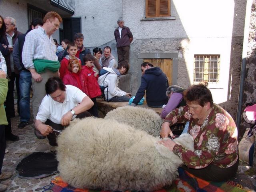
[[[150,62],[141,64],[141,84],[138,89],[132,106],[138,105],[146,90],[146,101],[149,107],[162,107],[168,102],[166,90],[168,79],[159,67],[154,67]]]

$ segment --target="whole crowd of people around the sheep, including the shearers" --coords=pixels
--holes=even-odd
[[[22,34],[17,30],[14,18],[0,16],[0,180],[11,176],[1,173],[5,142],[19,140],[12,134],[10,120],[15,116],[14,87],[20,114],[18,128],[24,128],[33,117],[36,137],[47,137],[53,151],[57,146],[56,137],[71,120],[91,115],[99,117],[96,98],[127,104],[131,99],[131,93],[118,88],[121,76],[130,68],[129,49],[133,40],[124,21],[119,19],[118,28],[114,30],[118,60],[112,55],[110,46],[105,46],[103,51],[96,47],[92,55],[84,46],[82,33],[74,34],[74,41],[64,39],[59,45],[52,34],[61,22],[58,13],[48,12],[43,20],[34,19],[26,34]],[[162,138],[175,137],[170,130],[172,124],[188,122],[187,132],[197,146],[195,152],[185,150],[173,141],[162,141],[184,160],[184,169],[196,169],[193,174],[201,177],[212,172],[209,180],[218,180],[215,177],[219,173],[226,173],[220,180],[233,175],[238,165],[236,126],[224,109],[213,104],[210,90],[203,85],[187,90],[174,85],[169,87],[166,74],[150,62],[141,64],[141,72],[141,85],[131,106],[137,106],[145,93],[149,107],[164,106]],[[227,126],[232,132],[227,132]],[[218,142],[215,148],[210,143],[213,139]],[[220,150],[222,157],[218,155]],[[197,170],[202,168],[205,170],[198,173]],[[0,191],[6,188],[0,184]]]

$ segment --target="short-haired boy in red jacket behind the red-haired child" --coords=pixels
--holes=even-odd
[[[63,80],[63,77],[65,76],[66,73],[68,73],[68,62],[70,59],[77,59],[80,64],[81,64],[81,60],[79,58],[76,57],[76,53],[77,53],[77,46],[74,42],[70,42],[67,46],[67,52],[68,55],[66,55],[60,63],[60,78]]]

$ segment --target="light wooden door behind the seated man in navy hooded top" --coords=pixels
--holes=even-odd
[[[172,85],[172,59],[144,59],[146,61],[160,67],[168,78],[169,86]]]

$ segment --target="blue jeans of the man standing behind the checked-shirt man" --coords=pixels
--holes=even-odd
[[[30,120],[30,90],[31,73],[26,70],[20,72],[20,122]]]

